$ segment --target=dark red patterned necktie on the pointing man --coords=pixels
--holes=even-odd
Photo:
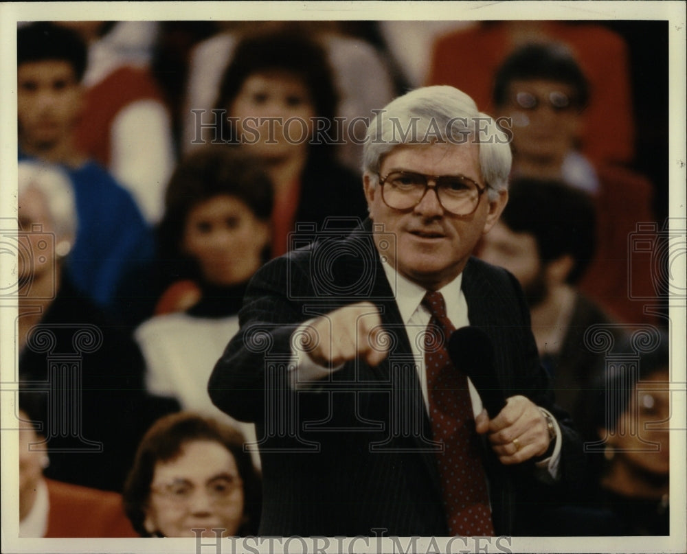
[[[444,443],[437,457],[449,531],[491,536],[494,526],[468,381],[453,366],[446,348],[455,327],[440,292],[428,291],[423,305],[431,313],[425,334],[429,417],[434,440]]]

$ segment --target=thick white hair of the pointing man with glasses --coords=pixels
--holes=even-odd
[[[399,96],[372,119],[363,147],[363,172],[376,177],[396,146],[466,143],[480,149],[480,171],[495,199],[508,189],[510,137],[474,100],[453,86],[424,86]]]

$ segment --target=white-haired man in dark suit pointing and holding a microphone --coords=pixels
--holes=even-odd
[[[546,513],[576,485],[581,443],[517,281],[471,258],[508,200],[508,137],[436,86],[386,106],[367,138],[370,219],[258,271],[208,385],[262,437],[260,533],[555,534]],[[449,353],[468,325],[489,351]],[[491,354],[478,393],[455,365]],[[494,390],[507,401],[490,414]]]

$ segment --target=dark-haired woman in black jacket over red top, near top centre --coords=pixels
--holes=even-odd
[[[335,161],[336,106],[326,54],[303,34],[287,27],[237,45],[216,109],[222,139],[259,157],[273,181],[273,256],[312,240],[328,216],[350,229],[367,213],[360,179]]]

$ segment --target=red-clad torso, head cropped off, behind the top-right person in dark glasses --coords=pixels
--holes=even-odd
[[[581,124],[581,148],[594,163],[631,163],[634,122],[627,45],[601,25],[573,21],[485,21],[436,41],[428,84],[452,84],[491,104],[497,68],[523,45],[562,43],[570,47],[594,94]],[[461,53],[469,51],[471,56]]]

